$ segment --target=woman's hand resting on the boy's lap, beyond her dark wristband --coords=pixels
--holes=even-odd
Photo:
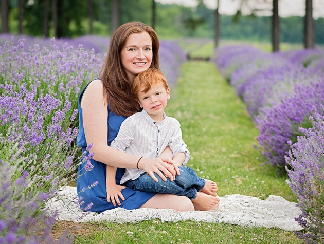
[[[155,177],[156,173],[164,181],[167,180],[166,177],[169,177],[171,181],[175,179],[176,171],[172,163],[167,163],[161,160],[160,158],[142,158],[138,163],[138,168],[147,172],[154,181],[158,182],[158,179]]]

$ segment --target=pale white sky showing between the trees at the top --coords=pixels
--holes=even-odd
[[[160,2],[163,4],[180,4],[188,7],[197,6],[196,0],[155,0],[156,2]],[[240,0],[219,0],[220,14],[232,15],[236,13]],[[258,1],[254,1],[258,2]],[[272,1],[268,1],[272,2]],[[205,5],[208,8],[215,9],[217,5],[217,0],[204,0]],[[288,17],[288,16],[304,16],[305,15],[305,0],[279,0],[279,16]],[[272,4],[268,4],[265,6],[266,8],[272,8]],[[271,15],[271,11],[263,12],[263,15]],[[313,0],[313,17],[324,17],[324,0]]]

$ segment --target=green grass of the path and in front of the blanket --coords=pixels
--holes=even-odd
[[[220,196],[243,194],[296,201],[286,176],[278,176],[256,151],[258,131],[245,104],[212,63],[190,61],[171,90],[166,113],[181,122],[191,152],[188,166],[218,183]],[[75,243],[302,243],[293,232],[194,221],[75,223],[58,221],[53,235],[69,229]]]

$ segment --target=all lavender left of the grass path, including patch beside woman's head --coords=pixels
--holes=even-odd
[[[47,218],[43,205],[76,180],[82,158],[75,145],[77,98],[99,76],[109,39],[0,35],[0,45],[0,243],[54,243],[49,233],[55,215]],[[172,41],[161,41],[159,54],[174,86],[186,55]],[[91,207],[81,199],[76,204]],[[70,243],[64,236],[60,241]]]

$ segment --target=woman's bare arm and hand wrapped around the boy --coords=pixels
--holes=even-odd
[[[83,93],[81,107],[85,138],[88,144],[93,143],[91,152],[94,153],[94,159],[113,167],[136,168],[139,156],[120,152],[107,144],[108,111],[100,80],[95,80],[88,85]],[[154,180],[157,180],[154,172],[165,180],[164,175],[170,179],[175,175],[174,168],[158,158],[142,158],[138,167],[150,174]]]

